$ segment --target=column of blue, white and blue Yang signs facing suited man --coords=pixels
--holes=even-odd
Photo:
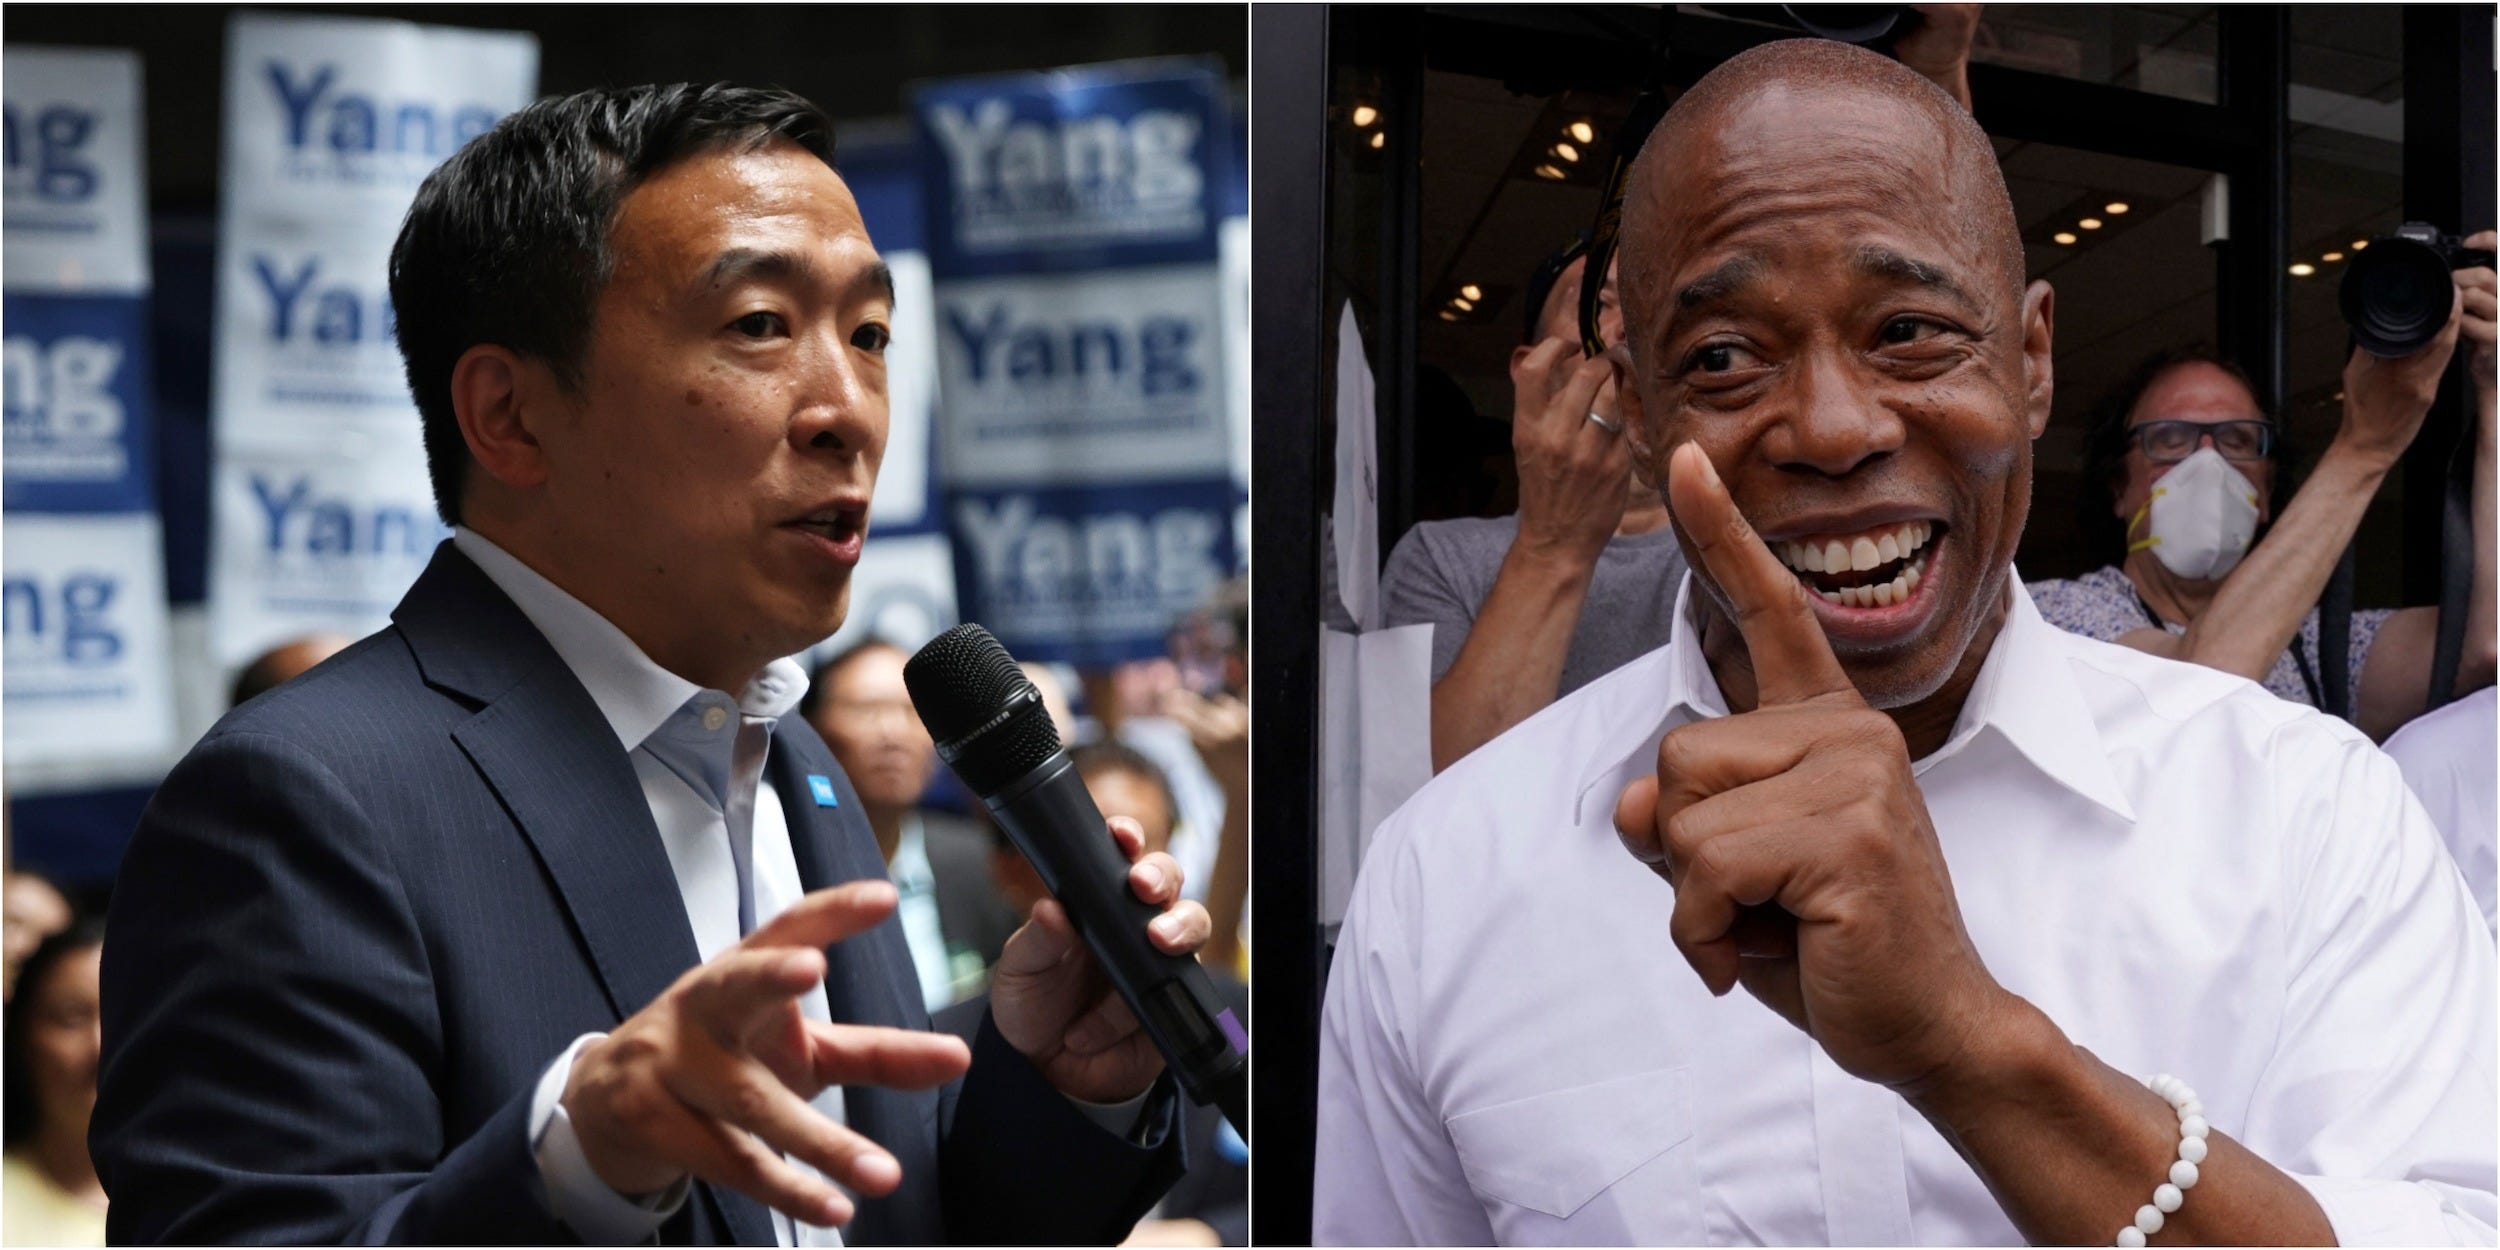
[[[1160,655],[1235,552],[1218,78],[1002,75],[915,108],[962,618],[1038,660]]]

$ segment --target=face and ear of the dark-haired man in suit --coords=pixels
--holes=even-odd
[[[550,575],[662,668],[735,690],[850,602],[885,455],[892,278],[850,188],[790,142],[635,188],[580,392],[530,435]],[[590,592],[585,592],[590,590]]]

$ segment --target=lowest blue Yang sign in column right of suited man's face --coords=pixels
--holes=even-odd
[[[1108,668],[1162,655],[1232,562],[1232,482],[958,490],[955,585],[1020,660]]]

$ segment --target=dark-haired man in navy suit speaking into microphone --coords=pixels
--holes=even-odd
[[[115,1242],[1115,1240],[1172,1082],[1055,902],[930,1035],[792,712],[885,448],[892,285],[785,92],[542,100],[420,188],[400,350],[455,538],[228,715],[115,890]],[[1130,888],[1205,942],[1180,870]],[[970,1068],[970,1072],[968,1072]]]

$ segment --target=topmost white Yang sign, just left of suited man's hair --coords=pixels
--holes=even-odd
[[[225,45],[225,212],[370,218],[388,238],[418,182],[535,90],[535,35],[238,12]]]

